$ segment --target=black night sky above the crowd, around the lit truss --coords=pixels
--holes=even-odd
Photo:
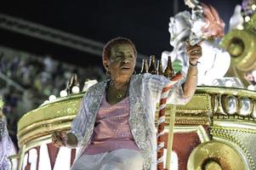
[[[228,29],[230,16],[242,0],[204,0],[219,11]],[[94,0],[94,1],[16,1],[3,2],[1,14],[29,20],[43,26],[66,31],[105,43],[112,37],[128,37],[139,54],[159,58],[169,45],[169,17],[188,9],[183,0]],[[101,65],[100,56],[87,54],[34,37],[0,29],[0,45],[35,54],[51,54],[55,59],[87,66]],[[65,59],[67,58],[67,59]]]

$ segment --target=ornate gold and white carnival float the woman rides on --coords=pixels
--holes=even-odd
[[[193,23],[202,19],[200,14],[203,14],[202,8],[205,7],[198,2],[185,2],[189,3],[192,13],[187,11],[172,17],[169,31],[182,20]],[[207,46],[205,53],[213,52],[213,61],[202,59],[200,64],[206,74],[199,77],[200,84],[191,101],[187,105],[165,105],[164,126],[159,134],[162,137],[158,142],[164,151],[158,161],[162,161],[166,169],[256,169],[256,88],[255,82],[247,78],[256,70],[256,2],[244,1],[242,5],[236,8],[230,20],[232,27],[221,41],[204,44]],[[212,6],[206,8],[217,17],[218,13]],[[244,8],[244,14],[241,8]],[[242,22],[241,16],[244,19]],[[191,24],[190,28],[195,25]],[[221,20],[219,25],[222,26]],[[168,63],[168,56],[171,56],[174,70],[182,67],[181,71],[185,71],[186,61],[179,56],[182,54],[180,47],[185,42],[182,42],[180,34],[170,32],[171,45],[173,42],[178,49],[163,52],[163,68]],[[191,37],[191,32],[188,34],[181,29],[181,33]],[[215,74],[210,74],[211,69]],[[76,150],[54,147],[51,134],[54,130],[70,129],[83,94],[95,83],[86,82],[86,88],[80,92],[76,82],[77,77],[72,77],[69,88],[61,92],[61,97],[50,98],[20,118],[17,133],[20,151],[9,157],[11,161],[19,162],[19,170],[70,169]],[[161,124],[158,112],[156,126]]]

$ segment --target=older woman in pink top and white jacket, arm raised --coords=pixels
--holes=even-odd
[[[168,103],[174,105],[185,104],[196,89],[201,47],[189,46],[187,53],[188,76],[168,95]],[[156,102],[169,79],[148,73],[134,75],[136,59],[136,48],[128,38],[107,42],[103,65],[111,79],[84,94],[70,133],[53,133],[56,146],[80,146],[72,170],[156,169]]]

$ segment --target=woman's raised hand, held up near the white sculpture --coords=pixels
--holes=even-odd
[[[202,47],[200,42],[196,45],[191,46],[190,42],[185,42],[186,53],[189,56],[190,64],[196,66],[198,59],[202,56]]]

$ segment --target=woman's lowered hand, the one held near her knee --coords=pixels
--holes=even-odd
[[[52,144],[56,147],[65,146],[67,143],[68,135],[65,132],[54,131],[52,134]]]

